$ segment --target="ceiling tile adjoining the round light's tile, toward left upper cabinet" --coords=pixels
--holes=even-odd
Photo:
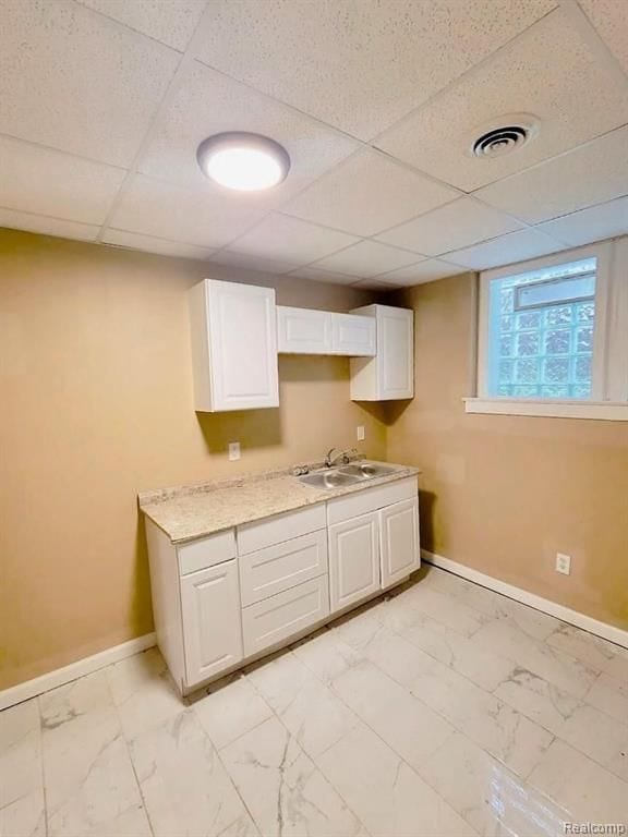
[[[203,189],[183,189],[136,174],[110,226],[201,247],[221,247],[261,221],[266,213],[258,195],[226,191],[217,194],[208,182]]]

